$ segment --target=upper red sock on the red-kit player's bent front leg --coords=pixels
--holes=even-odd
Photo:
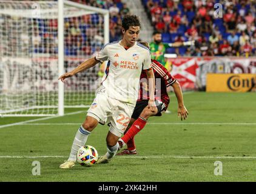
[[[147,123],[147,120],[139,117],[138,119],[136,119],[135,122],[133,122],[132,127],[130,127],[130,129],[128,130],[128,132],[123,136],[123,138],[121,138],[126,144],[130,139],[133,139],[134,136],[140,132],[140,130],[142,130],[145,125]]]

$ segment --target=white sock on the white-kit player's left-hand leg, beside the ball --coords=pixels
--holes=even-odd
[[[68,161],[74,161],[74,162],[76,161],[76,154],[79,148],[86,144],[86,141],[89,135],[90,135],[90,132],[84,129],[84,127],[81,125],[81,127],[79,127],[78,129],[78,132],[76,132],[76,136],[72,144]]]

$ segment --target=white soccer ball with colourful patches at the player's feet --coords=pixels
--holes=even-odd
[[[82,146],[77,152],[76,161],[82,166],[93,166],[98,160],[98,152],[92,146]]]

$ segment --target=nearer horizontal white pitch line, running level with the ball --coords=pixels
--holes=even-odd
[[[0,156],[0,158],[68,158],[68,156]],[[223,158],[223,159],[256,159],[256,156],[116,156],[115,158]]]

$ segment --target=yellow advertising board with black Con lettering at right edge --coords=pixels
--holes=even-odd
[[[256,92],[256,74],[207,73],[206,92]]]

